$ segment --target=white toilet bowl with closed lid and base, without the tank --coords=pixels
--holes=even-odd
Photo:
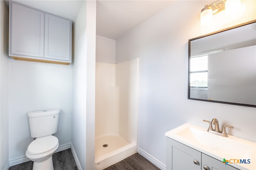
[[[52,135],[38,137],[31,142],[26,150],[26,156],[34,162],[33,170],[54,170],[52,155],[58,146],[58,138]]]

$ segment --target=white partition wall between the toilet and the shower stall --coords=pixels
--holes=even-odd
[[[94,169],[96,1],[83,2],[73,30],[71,147],[78,168],[90,170]]]

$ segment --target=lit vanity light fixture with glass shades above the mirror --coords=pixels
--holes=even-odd
[[[222,10],[227,10],[228,16],[232,13],[238,12],[241,0],[217,0],[210,5],[205,5],[201,10],[201,26],[208,26],[212,24],[212,15]]]

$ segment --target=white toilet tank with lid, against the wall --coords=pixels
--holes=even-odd
[[[28,112],[31,137],[38,138],[56,133],[59,113],[60,109]]]

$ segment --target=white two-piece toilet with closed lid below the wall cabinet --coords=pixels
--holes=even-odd
[[[34,162],[33,170],[53,170],[52,155],[59,146],[57,132],[60,109],[28,112],[30,134],[36,138],[26,150],[28,159]]]

